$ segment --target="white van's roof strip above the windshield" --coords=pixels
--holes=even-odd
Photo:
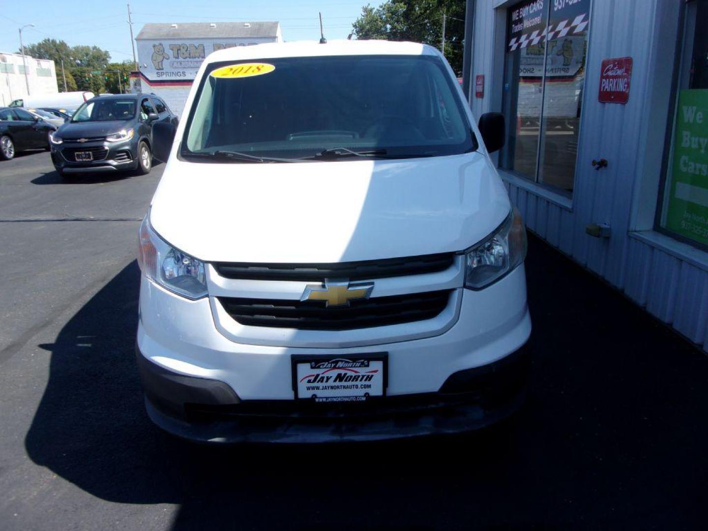
[[[390,40],[316,40],[268,42],[251,46],[235,46],[210,54],[206,62],[241,61],[243,59],[275,59],[278,57],[317,57],[323,55],[438,55],[432,46],[418,42]]]

